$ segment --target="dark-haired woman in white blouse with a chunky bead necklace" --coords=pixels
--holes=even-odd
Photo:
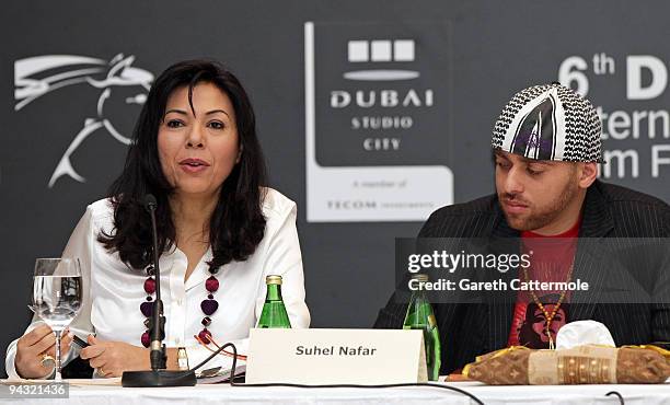
[[[169,369],[177,368],[180,347],[190,366],[209,356],[213,343],[233,342],[244,352],[268,274],[284,277],[291,325],[308,327],[296,205],[263,182],[254,113],[238,79],[209,61],[165,70],[149,92],[109,198],[88,207],[65,250],[63,257],[81,259],[84,287],[83,310],[70,331],[91,345],[79,350],[67,336],[66,361],[80,355],[101,377],[150,369],[155,282],[142,205],[149,193],[158,200]],[[48,375],[42,360],[54,346],[50,328],[34,320],[8,348],[8,374]],[[229,363],[217,356],[210,367]]]

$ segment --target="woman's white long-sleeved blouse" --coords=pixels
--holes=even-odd
[[[266,228],[263,241],[245,262],[232,262],[219,268],[219,290],[215,299],[218,310],[210,315],[207,328],[219,345],[233,342],[238,352],[245,354],[250,328],[255,327],[263,310],[266,286],[265,276],[282,277],[281,294],[291,326],[309,327],[310,313],[304,302],[302,257],[296,230],[296,204],[279,192],[267,188],[263,205]],[[146,301],[145,270],[126,266],[118,253],[111,254],[96,241],[101,230],[113,232],[113,208],[108,199],[99,200],[86,208],[70,236],[63,257],[79,257],[83,282],[83,308],[70,325],[70,331],[85,340],[95,333],[99,339],[125,342],[140,346],[146,331],[140,304]],[[161,296],[165,323],[164,344],[168,347],[186,347],[189,366],[207,358],[211,351],[194,337],[203,329],[200,302],[207,298],[205,280],[211,259],[209,248],[184,281],[187,268],[186,255],[176,247],[160,257]],[[39,321],[33,322],[26,332]],[[215,346],[210,345],[212,349]],[[72,345],[67,360],[78,356]],[[16,340],[8,347],[5,369],[10,378],[19,378],[14,367]],[[63,357],[65,358],[65,357]],[[205,368],[229,366],[230,358],[217,356]]]

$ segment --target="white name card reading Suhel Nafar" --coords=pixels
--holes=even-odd
[[[427,381],[421,331],[256,328],[249,345],[247,383]]]

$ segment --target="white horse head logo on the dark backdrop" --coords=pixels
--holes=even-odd
[[[117,141],[130,144],[130,138],[117,130],[105,114],[105,104],[109,104],[114,96],[122,95],[120,103],[125,105],[142,105],[147,101],[147,93],[153,82],[153,74],[147,70],[132,66],[135,56],[125,57],[116,55],[112,60],[104,60],[74,55],[44,55],[14,62],[14,111],[20,111],[36,99],[58,89],[88,84],[100,91],[96,104],[96,116],[84,119],[83,127],[74,136],[69,147],[56,165],[48,187],[53,188],[58,178],[70,176],[77,182],[84,183],[70,158],[81,143],[94,131],[104,129]],[[119,91],[124,89],[125,91]],[[128,96],[128,90],[130,95]],[[118,94],[118,95],[117,95]]]

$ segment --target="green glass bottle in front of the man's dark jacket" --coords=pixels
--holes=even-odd
[[[413,275],[412,279],[417,280],[421,286],[428,281],[428,275]],[[437,328],[432,306],[426,298],[424,290],[418,289],[412,292],[412,299],[407,306],[407,315],[403,324],[404,329],[424,331],[424,345],[426,347],[426,366],[428,367],[428,380],[437,381],[440,375],[440,333]]]

